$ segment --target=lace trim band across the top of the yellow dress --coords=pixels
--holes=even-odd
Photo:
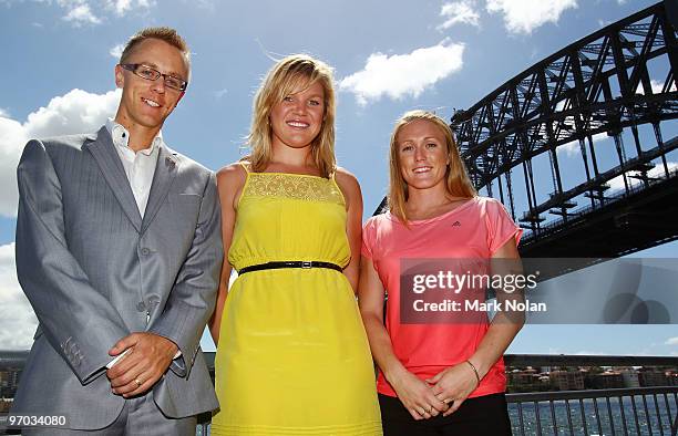
[[[286,173],[249,173],[247,176],[243,196],[343,205],[343,195],[331,178]]]

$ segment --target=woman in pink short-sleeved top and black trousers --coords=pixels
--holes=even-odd
[[[402,259],[515,261],[521,229],[499,201],[476,195],[439,116],[404,114],[390,149],[389,211],[364,225],[359,284],[384,435],[510,435],[502,355],[522,318],[427,318],[425,292],[401,292],[400,268]]]

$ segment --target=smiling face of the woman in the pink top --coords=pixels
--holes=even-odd
[[[428,189],[445,184],[450,156],[444,133],[430,121],[415,120],[396,136],[400,173],[409,187]]]

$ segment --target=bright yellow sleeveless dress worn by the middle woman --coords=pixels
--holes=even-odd
[[[228,260],[345,267],[346,204],[333,177],[248,173]],[[253,271],[226,299],[212,435],[381,435],[374,372],[353,290],[330,269]]]

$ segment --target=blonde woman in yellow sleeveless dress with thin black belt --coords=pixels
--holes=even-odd
[[[362,198],[336,166],[330,68],[279,61],[255,97],[248,144],[217,175],[228,256],[210,321],[212,434],[381,435],[355,298]]]

